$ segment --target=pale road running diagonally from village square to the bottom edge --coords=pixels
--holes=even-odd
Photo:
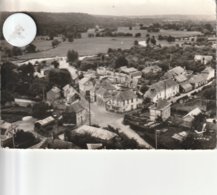
[[[134,130],[132,130],[129,126],[122,124],[122,119],[116,121],[116,128],[119,129],[120,133],[124,133],[128,138],[135,139],[137,143],[147,149],[153,149],[154,147],[147,143],[144,139],[142,139]]]

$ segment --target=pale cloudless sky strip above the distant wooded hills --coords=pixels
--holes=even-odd
[[[0,11],[81,12],[95,15],[215,15],[215,0],[0,0]]]

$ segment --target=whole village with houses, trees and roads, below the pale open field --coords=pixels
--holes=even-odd
[[[118,36],[126,28],[119,28]],[[97,32],[103,31],[97,27]],[[83,36],[91,39],[95,33],[89,29]],[[154,36],[142,37],[125,50],[109,48],[92,56],[71,50],[66,57],[30,59],[15,66],[5,62],[4,89],[14,96],[7,90],[2,95],[1,145],[215,148],[216,37],[179,35],[165,48]],[[210,44],[197,45],[201,37]],[[185,55],[188,59],[182,61]]]

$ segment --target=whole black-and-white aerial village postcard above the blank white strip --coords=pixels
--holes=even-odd
[[[214,0],[1,0],[0,26],[2,148],[216,149]]]

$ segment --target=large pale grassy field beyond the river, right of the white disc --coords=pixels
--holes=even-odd
[[[76,50],[80,56],[95,55],[97,53],[105,53],[108,48],[122,48],[129,49],[133,46],[134,41],[144,40],[136,39],[133,37],[128,38],[111,38],[111,37],[96,37],[96,38],[83,38],[75,39],[74,42],[62,42],[58,47],[52,48],[51,41],[46,40],[35,40],[33,42],[36,45],[39,52],[25,54],[18,56],[17,60],[28,60],[34,58],[47,58],[55,56],[66,56],[67,51],[70,49]]]

